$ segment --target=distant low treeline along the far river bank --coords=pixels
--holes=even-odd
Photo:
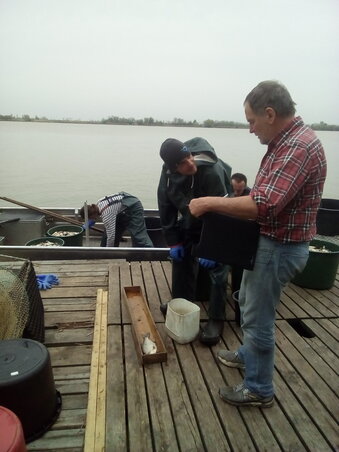
[[[115,125],[129,125],[129,126],[173,126],[173,127],[209,127],[209,128],[224,128],[224,129],[247,129],[248,124],[235,121],[217,121],[214,119],[206,119],[198,122],[185,121],[181,118],[174,118],[173,121],[159,121],[152,117],[135,119],[135,118],[120,118],[119,116],[110,116],[101,119],[100,121],[80,121],[76,119],[48,119],[43,117],[31,117],[30,115],[13,116],[0,115],[0,121],[21,121],[21,122],[57,122],[57,123],[74,123],[74,124],[115,124]],[[339,131],[339,125],[327,124],[321,121],[320,123],[310,124],[314,130],[335,130]]]

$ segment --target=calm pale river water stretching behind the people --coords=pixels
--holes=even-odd
[[[328,162],[323,197],[339,199],[339,132],[317,135]],[[246,129],[0,121],[0,196],[39,207],[81,207],[123,190],[156,208],[161,143],[195,136],[252,185],[266,146]]]

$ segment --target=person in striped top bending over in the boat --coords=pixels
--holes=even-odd
[[[153,247],[146,229],[144,208],[136,196],[122,191],[99,199],[96,204],[90,204],[87,209],[89,226],[93,226],[99,218],[105,226],[106,231],[100,246],[119,246],[123,232],[128,229],[133,246]],[[84,207],[79,210],[79,213],[84,219]]]

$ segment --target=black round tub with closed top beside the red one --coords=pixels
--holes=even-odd
[[[0,341],[0,405],[18,416],[27,443],[42,436],[56,421],[61,395],[43,344],[31,339]]]

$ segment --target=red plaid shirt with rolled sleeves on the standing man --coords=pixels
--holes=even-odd
[[[310,241],[326,178],[323,147],[300,117],[269,144],[250,196],[261,234],[283,243]]]

